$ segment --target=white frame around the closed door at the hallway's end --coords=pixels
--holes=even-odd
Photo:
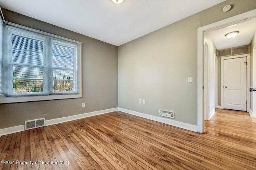
[[[234,59],[246,57],[246,111],[250,110],[250,91],[247,90],[250,88],[250,77],[251,77],[251,55],[242,54],[242,55],[233,55],[229,57],[220,58],[220,107],[224,109],[224,60],[225,59]]]

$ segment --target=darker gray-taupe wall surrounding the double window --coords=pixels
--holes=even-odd
[[[82,98],[0,104],[0,128],[118,107],[118,47],[9,10],[3,13],[9,22],[82,42]]]

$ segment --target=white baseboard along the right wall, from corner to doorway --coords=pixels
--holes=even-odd
[[[131,115],[135,115],[135,116],[138,116],[138,117],[143,117],[143,118],[146,118],[146,119],[150,119],[152,121],[165,123],[167,125],[172,125],[174,127],[184,128],[186,130],[191,130],[193,132],[197,132],[197,126],[196,125],[190,125],[188,123],[182,123],[182,122],[174,121],[174,120],[171,120],[171,119],[168,119],[168,118],[162,118],[162,117],[147,115],[145,113],[139,113],[139,112],[136,112],[136,111],[123,109],[123,108],[120,108],[120,107],[118,108],[118,111],[128,113],[128,114],[131,114]]]

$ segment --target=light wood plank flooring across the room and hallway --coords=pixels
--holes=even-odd
[[[255,170],[255,121],[217,109],[200,134],[117,111],[2,136],[0,169]]]

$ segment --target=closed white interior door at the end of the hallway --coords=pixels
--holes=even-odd
[[[224,109],[246,111],[246,57],[224,60]]]

